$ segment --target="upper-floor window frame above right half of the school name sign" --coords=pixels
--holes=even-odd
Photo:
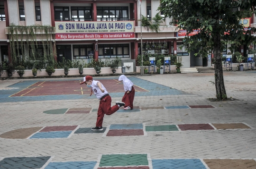
[[[108,10],[108,17],[104,17],[104,11]],[[110,15],[110,11],[115,11],[115,17],[112,17],[113,15]],[[100,13],[101,15],[98,15]],[[117,11],[119,17],[117,17]],[[127,17],[123,17],[124,12],[126,11]],[[101,16],[101,17],[99,17]],[[129,7],[97,7],[97,21],[123,21],[123,20],[129,20]]]

